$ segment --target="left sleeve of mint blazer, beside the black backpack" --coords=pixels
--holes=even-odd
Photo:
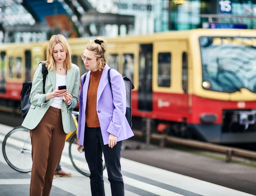
[[[30,102],[33,105],[44,107],[48,102],[46,101],[46,94],[42,93],[42,64],[39,63],[33,76],[32,89],[30,92]]]

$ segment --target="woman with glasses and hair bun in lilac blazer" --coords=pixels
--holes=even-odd
[[[86,46],[81,58],[89,70],[81,76],[79,96],[78,147],[84,146],[84,154],[91,172],[92,196],[105,195],[102,152],[112,195],[123,196],[124,184],[121,174],[122,140],[134,134],[125,118],[126,94],[122,75],[112,69],[105,60],[106,41],[101,37]],[[86,77],[83,83],[83,78]]]

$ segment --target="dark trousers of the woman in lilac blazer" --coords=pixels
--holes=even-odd
[[[123,177],[121,174],[121,146],[122,142],[110,148],[104,145],[100,127],[86,127],[84,131],[84,154],[91,172],[91,192],[92,196],[104,196],[102,151],[108,171],[108,179],[111,186],[112,196],[124,195]]]

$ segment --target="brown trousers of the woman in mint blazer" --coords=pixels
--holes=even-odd
[[[30,130],[30,137],[33,161],[30,196],[49,196],[66,139],[61,110],[50,106],[39,124]]]

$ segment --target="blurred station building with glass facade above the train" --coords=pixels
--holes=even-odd
[[[0,1],[0,43],[197,28],[256,29],[256,0]]]

